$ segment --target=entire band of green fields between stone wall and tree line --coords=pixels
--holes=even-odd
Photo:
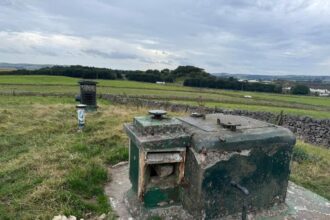
[[[78,94],[79,79],[62,76],[0,76],[0,92],[38,92]],[[197,105],[200,97],[209,107],[268,111],[314,118],[330,118],[330,98],[257,92],[198,89],[178,84],[157,85],[123,80],[98,80],[98,92],[125,94],[155,100]],[[250,95],[252,98],[244,98]]]

